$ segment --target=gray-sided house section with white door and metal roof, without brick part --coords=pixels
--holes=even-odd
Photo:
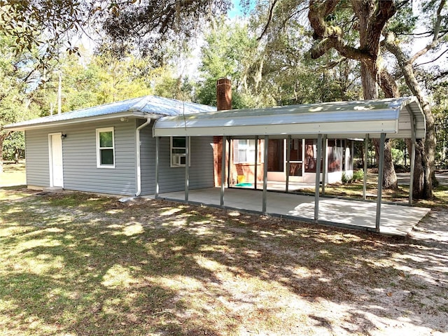
[[[155,193],[153,125],[162,116],[216,111],[155,96],[7,125],[25,131],[29,188],[64,188],[118,195]],[[212,137],[190,143],[190,188],[214,186]],[[186,137],[160,142],[160,186],[183,190]]]

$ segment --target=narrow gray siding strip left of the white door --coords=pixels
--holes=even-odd
[[[48,159],[49,133],[51,132],[25,132],[25,170],[28,186],[50,186],[50,163]]]

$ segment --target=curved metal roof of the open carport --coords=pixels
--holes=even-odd
[[[334,138],[412,137],[411,118],[415,120],[416,139],[425,137],[425,116],[415,97],[375,99],[356,102],[330,102],[264,109],[242,109],[198,113],[190,116],[160,118],[153,129],[155,137],[269,135],[284,137]]]

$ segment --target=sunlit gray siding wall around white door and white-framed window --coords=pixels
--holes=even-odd
[[[97,128],[113,127],[115,168],[97,168]],[[136,183],[136,120],[80,123],[43,130],[27,131],[27,183],[49,186],[48,134],[67,134],[62,141],[64,189],[134,195]],[[31,158],[28,158],[28,156]],[[37,160],[36,157],[41,155]]]

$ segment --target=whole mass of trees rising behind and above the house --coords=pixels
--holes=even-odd
[[[49,113],[59,71],[64,111],[149,92],[214,104],[221,76],[233,80],[235,107],[414,94],[428,129],[417,144],[414,193],[431,196],[435,127],[445,120],[434,104],[442,102],[448,76],[440,62],[448,54],[446,0],[241,1],[244,20],[222,16],[231,6],[230,0],[0,0],[0,29],[15,50],[5,55],[34,58],[16,69],[21,85],[34,80],[32,90],[8,84],[10,68],[1,67],[2,85],[15,87],[2,104],[15,106],[13,97],[25,92],[20,102]],[[71,57],[83,53],[72,39],[80,35],[98,40],[84,64]],[[202,38],[199,78],[170,66]]]

